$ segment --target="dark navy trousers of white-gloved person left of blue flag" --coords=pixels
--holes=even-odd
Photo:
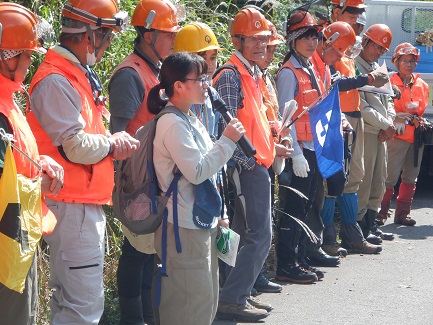
[[[287,189],[284,212],[305,222],[311,208],[319,178],[319,170],[314,151],[304,149],[304,157],[310,166],[307,177],[298,177],[293,174],[290,187],[300,191],[306,196],[301,198],[297,193]],[[292,161],[290,160],[290,164]],[[277,264],[278,267],[305,263],[307,235],[289,216],[282,214],[278,225]]]

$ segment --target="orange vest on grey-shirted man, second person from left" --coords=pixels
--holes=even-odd
[[[106,134],[101,112],[96,108],[92,89],[87,77],[76,66],[65,58],[49,50],[45,60],[39,66],[30,84],[29,93],[43,78],[59,74],[65,77],[82,98],[81,116],[85,122],[83,131],[89,134]],[[52,107],[44,108],[49,114]],[[68,203],[111,204],[111,194],[114,186],[114,165],[110,156],[91,165],[73,163],[64,159],[58,147],[53,146],[50,137],[41,127],[35,114],[28,107],[27,121],[35,135],[39,152],[48,155],[63,166],[65,171],[64,188],[57,196],[47,197]]]

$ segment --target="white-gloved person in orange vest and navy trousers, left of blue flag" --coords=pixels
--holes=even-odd
[[[282,113],[285,103],[295,99],[298,110],[293,118],[296,118],[325,90],[310,61],[318,45],[319,26],[313,16],[305,11],[291,15],[287,25],[290,51],[277,75],[278,106]],[[286,191],[284,212],[305,221],[315,196],[319,173],[308,114],[295,122],[291,136],[294,152],[289,162],[293,170],[290,187],[304,196]],[[278,227],[276,279],[294,283],[316,282],[323,277],[323,272],[307,264],[307,235],[288,215],[281,216]]]

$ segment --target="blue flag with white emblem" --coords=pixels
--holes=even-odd
[[[343,169],[344,140],[337,85],[308,111],[317,165],[324,179]]]

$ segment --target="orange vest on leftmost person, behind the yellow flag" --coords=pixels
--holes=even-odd
[[[23,113],[13,100],[12,93],[22,92],[23,87],[0,74],[0,113],[3,114],[9,122],[12,133],[16,142],[14,144],[24,151],[31,159],[38,162],[39,153],[36,145],[36,139],[24,117]],[[27,178],[39,177],[39,168],[37,168],[29,159],[23,156],[18,150],[13,150],[17,174]],[[42,198],[42,231],[43,234],[51,234],[56,226],[54,215],[45,205]]]

